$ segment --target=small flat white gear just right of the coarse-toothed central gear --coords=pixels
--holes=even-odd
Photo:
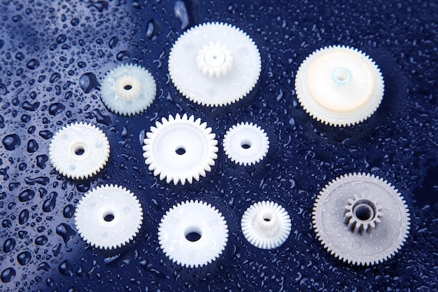
[[[269,150],[269,138],[262,127],[248,122],[230,127],[222,143],[228,158],[245,166],[260,162]]]

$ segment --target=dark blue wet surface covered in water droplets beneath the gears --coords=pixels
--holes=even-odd
[[[188,29],[174,4],[1,1],[0,272],[13,269],[15,277],[3,272],[0,290],[437,291],[437,1],[187,0],[188,27],[229,22],[262,56],[255,90],[216,109],[189,102],[171,84],[169,50]],[[330,45],[364,51],[383,73],[383,103],[360,125],[329,127],[297,104],[299,64]],[[142,64],[157,82],[154,104],[132,118],[108,112],[99,98],[106,71],[128,62]],[[142,158],[145,131],[175,113],[202,118],[219,141],[216,166],[192,185],[158,181]],[[111,144],[108,165],[86,181],[59,176],[48,161],[52,134],[75,121],[96,123]],[[221,144],[230,126],[246,121],[271,141],[255,167],[229,161]],[[409,205],[411,234],[381,265],[342,263],[311,227],[320,189],[348,172],[388,179]],[[74,226],[80,197],[101,183],[129,188],[143,205],[141,232],[117,251],[86,247]],[[199,270],[171,264],[157,242],[162,215],[189,199],[210,202],[229,225],[227,249]],[[257,249],[241,234],[243,211],[259,200],[282,204],[292,218],[278,249]]]

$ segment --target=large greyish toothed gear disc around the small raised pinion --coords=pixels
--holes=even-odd
[[[355,196],[379,202],[380,222],[370,232],[353,232],[345,223],[345,208]],[[320,191],[313,207],[318,240],[330,254],[353,265],[374,265],[394,256],[407,239],[409,225],[403,197],[374,174],[339,176]]]

